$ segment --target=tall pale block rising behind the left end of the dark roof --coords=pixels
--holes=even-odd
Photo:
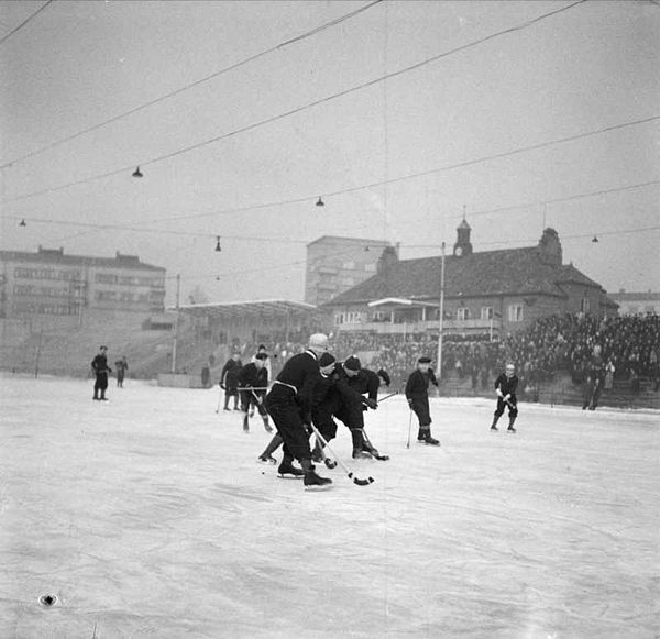
[[[370,278],[388,242],[323,235],[307,244],[305,301],[320,305]]]

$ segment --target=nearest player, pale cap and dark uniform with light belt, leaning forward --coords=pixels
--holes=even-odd
[[[332,480],[320,477],[315,472],[309,450],[311,399],[319,378],[319,357],[328,350],[328,335],[315,333],[309,338],[309,348],[290,357],[282,368],[271,392],[266,395],[268,410],[277,432],[284,440],[284,459],[279,464],[280,475],[304,475],[305,486],[329,487]],[[293,464],[294,458],[302,470]]]

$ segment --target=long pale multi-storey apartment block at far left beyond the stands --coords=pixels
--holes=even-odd
[[[0,317],[72,317],[90,311],[162,313],[165,274],[136,255],[113,258],[0,251]]]

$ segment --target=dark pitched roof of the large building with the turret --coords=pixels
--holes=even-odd
[[[350,288],[323,306],[366,302],[385,297],[428,299],[440,294],[442,258],[403,260]],[[486,251],[444,262],[444,295],[550,295],[565,297],[560,282],[601,286],[574,266],[553,266],[540,260],[538,246]]]

